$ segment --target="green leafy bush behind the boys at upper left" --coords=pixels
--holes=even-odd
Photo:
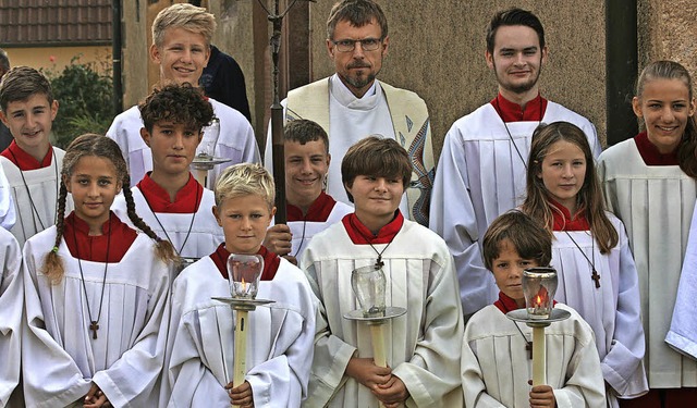
[[[105,134],[113,120],[113,82],[108,62],[105,70],[95,63],[71,60],[62,72],[46,71],[53,98],[58,100],[58,115],[53,121],[53,145],[65,149],[85,133]]]

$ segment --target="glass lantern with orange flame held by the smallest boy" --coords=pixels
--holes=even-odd
[[[554,307],[557,284],[554,268],[530,268],[523,271],[523,294],[528,318],[549,319]]]

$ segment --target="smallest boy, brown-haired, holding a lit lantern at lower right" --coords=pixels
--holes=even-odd
[[[545,329],[547,384],[528,385],[531,329],[506,318],[525,308],[523,271],[548,265],[549,232],[521,211],[496,219],[484,236],[484,262],[500,288],[499,300],[475,313],[462,342],[462,387],[467,407],[604,407],[604,384],[592,331],[578,313]]]

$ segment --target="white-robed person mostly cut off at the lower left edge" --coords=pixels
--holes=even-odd
[[[0,226],[0,407],[21,407],[21,326],[24,314],[22,249]]]

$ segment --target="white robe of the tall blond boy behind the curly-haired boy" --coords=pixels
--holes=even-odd
[[[230,161],[216,164],[208,172],[208,182],[205,187],[213,189],[218,175],[228,166],[237,163],[259,163],[259,147],[254,137],[254,129],[249,121],[236,110],[208,98],[213,107],[213,114],[218,119],[210,126],[204,127],[201,139],[196,154],[207,152],[215,157],[230,159]],[[135,186],[145,173],[152,170],[152,154],[150,148],[140,137],[143,120],[138,107],[120,113],[107,131],[107,137],[114,139],[129,166],[131,186]]]

